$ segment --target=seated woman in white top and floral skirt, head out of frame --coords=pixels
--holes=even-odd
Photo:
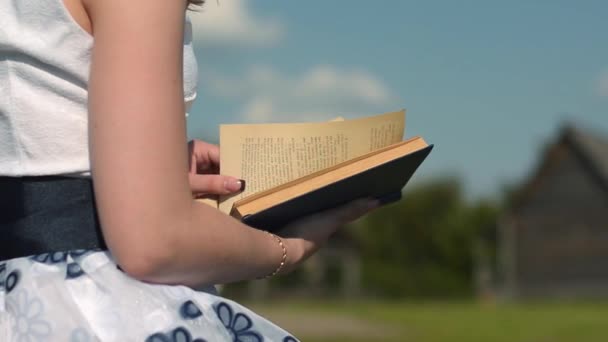
[[[244,183],[186,144],[188,5],[0,2],[1,341],[293,341],[212,285],[287,273],[377,205],[277,236],[193,200]]]

